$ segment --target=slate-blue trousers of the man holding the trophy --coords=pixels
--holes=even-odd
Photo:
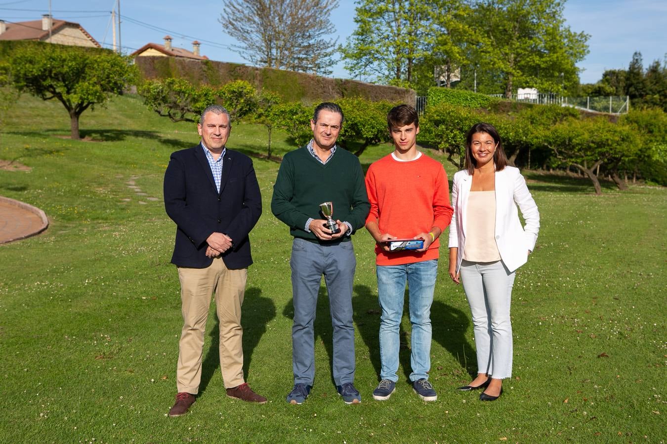
[[[333,381],[336,385],[354,382],[354,324],[352,324],[352,283],[357,261],[352,242],[315,244],[294,238],[291,282],[294,304],[292,324],[292,370],[294,383],[313,385],[315,380],[315,308],[319,282],[329,294],[333,326]]]

